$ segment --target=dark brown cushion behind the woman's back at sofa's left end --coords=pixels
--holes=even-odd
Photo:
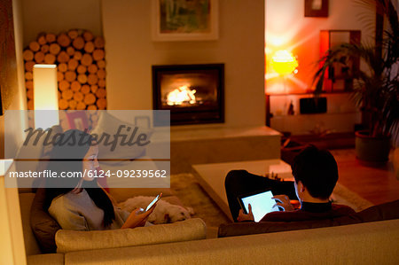
[[[37,189],[30,210],[30,225],[43,253],[55,253],[55,234],[60,230],[59,223],[43,210],[45,190]]]

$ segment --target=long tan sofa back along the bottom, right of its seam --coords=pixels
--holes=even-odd
[[[66,264],[397,264],[399,220],[66,253]]]

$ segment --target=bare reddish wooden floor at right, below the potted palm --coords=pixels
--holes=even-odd
[[[332,150],[338,163],[339,183],[372,204],[399,199],[399,180],[391,160],[380,168],[365,167],[356,160],[354,149]]]

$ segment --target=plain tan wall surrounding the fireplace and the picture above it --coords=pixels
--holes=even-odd
[[[152,109],[153,65],[224,63],[222,126],[262,126],[264,0],[219,0],[219,38],[207,42],[153,42],[151,3],[102,1],[109,109]]]

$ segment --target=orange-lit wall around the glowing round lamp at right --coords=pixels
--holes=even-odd
[[[361,30],[362,42],[372,43],[375,11],[355,0],[330,0],[328,17],[310,18],[304,16],[304,0],[266,0],[265,3],[267,74],[273,73],[270,58],[275,51],[292,51],[299,62],[298,73],[292,77],[266,80],[266,91],[269,94],[292,94],[270,97],[270,110],[274,114],[270,120],[271,127],[291,131],[296,135],[317,130],[353,131],[354,124],[360,122],[360,113],[354,103],[348,100],[349,94],[323,95],[327,97],[325,114],[299,114],[299,101],[301,97],[313,97],[301,93],[313,87],[313,74],[320,58],[320,30]],[[291,103],[295,115],[287,115]]]

